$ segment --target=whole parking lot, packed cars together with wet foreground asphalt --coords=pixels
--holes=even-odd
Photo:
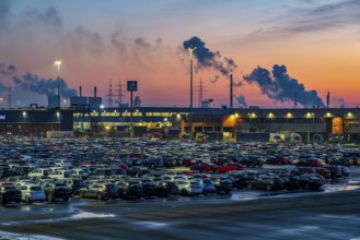
[[[22,235],[39,239],[144,239],[149,235],[152,239],[359,238],[355,226],[360,219],[360,167],[357,157],[348,164],[348,149],[271,145],[266,151],[277,149],[274,157],[259,151],[263,145],[247,143],[62,140],[16,142],[18,151],[11,147],[9,152],[14,142],[2,141],[0,147],[2,166],[13,171],[1,184],[18,189],[53,184],[61,192],[55,197],[54,190],[50,194],[44,191],[44,199],[34,201],[22,195],[20,203],[0,206],[1,233],[15,239]],[[324,165],[301,166],[303,155],[312,159],[309,163]],[[252,165],[259,160],[260,166]],[[277,160],[283,163],[272,163]],[[341,160],[344,166],[338,165]],[[53,164],[35,165],[45,161]],[[16,175],[13,169],[23,163],[31,170]],[[337,167],[333,173],[333,166],[349,172]],[[70,176],[28,177],[38,169]],[[83,172],[77,169],[89,173],[80,178],[77,175]],[[73,192],[70,183],[79,179],[84,185]],[[162,182],[170,182],[176,191],[164,192]],[[106,184],[111,184],[106,190],[116,187],[115,195],[92,194],[92,188]],[[137,188],[130,193],[127,185]],[[329,229],[325,221],[338,227]]]

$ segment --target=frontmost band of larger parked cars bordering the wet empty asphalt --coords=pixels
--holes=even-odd
[[[335,169],[334,171],[330,169]],[[126,171],[125,171],[126,172]],[[185,170],[149,170],[140,176],[126,173],[89,175],[71,178],[10,177],[0,181],[0,203],[35,201],[67,202],[69,197],[140,199],[144,196],[198,195],[248,190],[318,190],[327,180],[348,178],[346,167],[297,167],[231,170],[227,173]]]

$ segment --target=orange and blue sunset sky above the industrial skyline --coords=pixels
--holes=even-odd
[[[194,60],[196,107],[200,80],[204,99],[229,105],[230,73],[239,84],[234,107],[239,96],[247,106],[292,107],[243,79],[275,64],[324,104],[330,92],[330,107],[360,106],[359,0],[0,0],[0,33],[1,107],[8,106],[9,84],[13,107],[46,105],[39,88],[51,82],[26,81],[56,79],[58,59],[67,88],[82,85],[92,96],[97,86],[105,106],[111,81],[116,94],[119,80],[124,91],[126,81],[137,80],[142,106],[187,107],[189,53],[183,44],[194,36],[217,57],[206,65]],[[227,59],[237,68],[223,74],[216,64]],[[128,103],[130,94],[123,94]]]

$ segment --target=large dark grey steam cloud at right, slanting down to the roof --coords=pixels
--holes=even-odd
[[[262,93],[269,98],[284,103],[292,101],[294,97],[303,107],[325,107],[316,91],[305,91],[303,84],[287,74],[287,67],[275,64],[271,74],[267,69],[257,67],[243,79],[248,83],[257,84]]]

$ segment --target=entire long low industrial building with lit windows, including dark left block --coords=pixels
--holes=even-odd
[[[2,135],[35,137],[88,134],[117,137],[268,141],[270,134],[302,142],[360,143],[360,108],[104,108],[102,99],[78,97],[71,107],[0,109]]]

